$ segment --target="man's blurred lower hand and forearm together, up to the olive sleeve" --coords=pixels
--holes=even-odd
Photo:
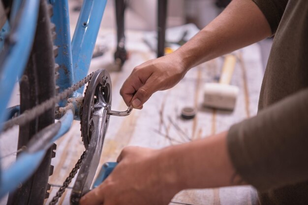
[[[106,180],[80,205],[168,205],[181,190],[239,185],[227,133],[159,150],[126,147]]]

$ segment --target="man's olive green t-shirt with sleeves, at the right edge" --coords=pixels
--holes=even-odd
[[[233,125],[228,149],[261,205],[308,205],[308,0],[253,0],[274,36],[256,117]]]

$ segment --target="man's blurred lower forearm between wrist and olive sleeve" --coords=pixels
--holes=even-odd
[[[177,191],[189,188],[213,188],[239,185],[239,176],[229,159],[227,132],[162,149],[158,159],[163,180]],[[169,180],[169,181],[168,181]]]

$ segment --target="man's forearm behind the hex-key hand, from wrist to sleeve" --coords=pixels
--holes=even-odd
[[[271,35],[271,28],[252,0],[232,0],[227,8],[173,53],[186,69]]]

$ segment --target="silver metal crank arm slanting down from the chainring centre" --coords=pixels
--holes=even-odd
[[[100,102],[104,102],[104,100]],[[91,184],[99,164],[103,141],[108,126],[109,116],[107,115],[107,111],[109,108],[110,105],[105,103],[94,105],[94,113],[91,122],[92,127],[89,130],[92,136],[91,142],[73,186],[70,196],[71,205],[78,205],[80,198],[91,189]]]

